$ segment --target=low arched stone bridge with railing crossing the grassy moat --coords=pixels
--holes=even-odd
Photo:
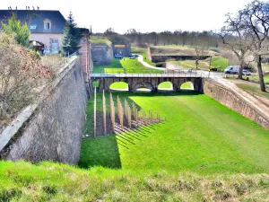
[[[180,91],[182,83],[191,82],[194,90],[203,92],[203,77],[201,75],[91,75],[92,81],[99,81],[99,92],[109,91],[112,83],[124,82],[128,84],[129,92],[136,92],[137,89],[147,88],[152,92],[158,92],[158,85],[163,82],[170,82],[173,91]]]

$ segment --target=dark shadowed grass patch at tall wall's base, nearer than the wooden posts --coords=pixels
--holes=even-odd
[[[100,136],[83,140],[78,165],[85,169],[92,166],[120,169],[121,162],[116,136]]]

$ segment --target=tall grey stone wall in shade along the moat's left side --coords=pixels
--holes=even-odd
[[[71,164],[79,161],[87,92],[79,58],[70,62],[52,84],[48,98],[39,101],[1,151],[4,159]]]

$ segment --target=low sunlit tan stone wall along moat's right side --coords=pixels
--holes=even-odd
[[[231,92],[225,86],[213,81],[204,80],[204,94],[221,102],[230,110],[235,110],[247,119],[251,119],[262,127],[269,129],[269,119],[266,118],[262,111],[254,109],[239,94]]]

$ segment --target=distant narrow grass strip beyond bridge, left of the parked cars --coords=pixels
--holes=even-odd
[[[183,60],[183,61],[169,61],[170,63],[177,64],[186,68],[196,68],[195,60]],[[208,69],[209,68],[209,58],[200,60],[198,68]],[[220,67],[221,70],[224,70],[228,66],[228,59],[224,57],[213,57],[212,58],[212,67],[217,68]]]

